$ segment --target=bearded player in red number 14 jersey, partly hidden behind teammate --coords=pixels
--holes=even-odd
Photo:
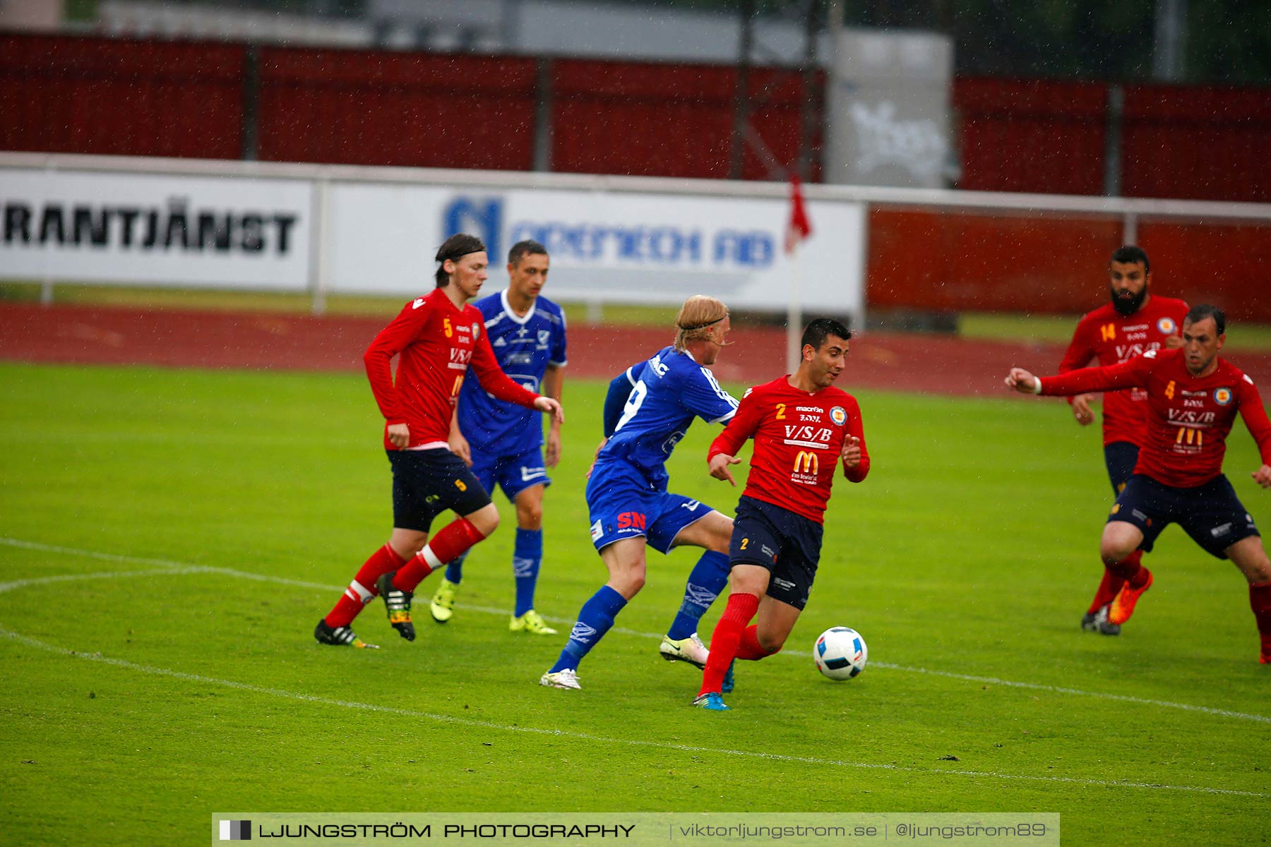
[[[1178,330],[1187,315],[1187,303],[1171,297],[1153,296],[1152,263],[1140,248],[1126,245],[1117,249],[1108,262],[1108,293],[1112,302],[1087,314],[1077,324],[1073,340],[1068,345],[1059,372],[1068,373],[1083,368],[1092,359],[1099,364],[1127,362],[1148,350],[1173,348],[1182,344]],[[1094,420],[1091,411],[1093,394],[1069,397],[1073,417],[1083,427]],[[1110,391],[1103,395],[1103,462],[1116,497],[1130,481],[1139,458],[1146,427],[1146,399],[1143,389]],[[1134,569],[1143,559],[1143,551],[1131,554],[1134,561],[1125,568]],[[1110,620],[1112,601],[1125,580],[1117,571],[1103,569],[1103,579],[1094,592],[1094,599],[1082,616],[1082,629],[1103,635],[1117,635],[1121,624]]]

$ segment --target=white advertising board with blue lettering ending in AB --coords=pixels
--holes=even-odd
[[[782,199],[563,189],[449,189],[333,184],[328,290],[414,296],[432,288],[437,246],[454,232],[489,248],[488,291],[506,284],[507,249],[541,241],[547,296],[561,301],[679,303],[712,295],[733,309],[785,311],[793,268]],[[863,312],[860,203],[811,202],[799,250],[805,310]]]

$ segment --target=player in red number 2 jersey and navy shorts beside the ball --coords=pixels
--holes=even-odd
[[[833,385],[846,367],[849,338],[836,320],[808,324],[794,373],[746,391],[710,444],[710,475],[736,485],[728,466],[741,461],[737,452],[755,438],[728,550],[728,606],[710,637],[694,706],[726,711],[721,687],[732,660],[763,659],[782,649],[816,578],[834,469],[841,458],[843,475],[853,483],[869,472],[860,406]]]

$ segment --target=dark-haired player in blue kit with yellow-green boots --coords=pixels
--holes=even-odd
[[[566,364],[564,312],[540,296],[548,278],[547,248],[519,241],[507,254],[507,290],[473,305],[486,319],[494,358],[513,382],[548,397],[561,397]],[[496,400],[474,373],[459,391],[450,447],[472,465],[487,491],[497,483],[516,505],[516,544],[512,577],[516,606],[512,632],[555,635],[534,610],[534,588],[543,561],[543,491],[552,484],[548,469],[561,458],[561,424],[552,422],[544,451],[539,413]],[[432,618],[445,624],[454,615],[466,554],[446,566],[432,598]]]

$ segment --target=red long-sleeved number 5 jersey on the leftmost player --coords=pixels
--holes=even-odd
[[[444,288],[408,302],[393,323],[380,330],[366,348],[362,362],[375,401],[384,415],[384,447],[397,450],[388,428],[404,423],[411,428],[409,447],[445,442],[455,397],[468,366],[480,377],[486,391],[522,406],[533,406],[539,395],[512,382],[498,367],[486,338],[486,319],[474,306],[458,309]],[[398,353],[397,382],[391,361]]]

